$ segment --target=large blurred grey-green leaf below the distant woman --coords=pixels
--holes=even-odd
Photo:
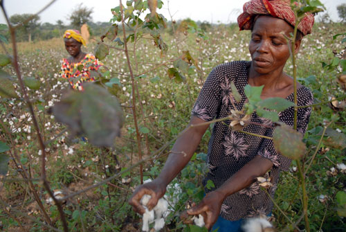
[[[115,96],[97,84],[83,84],[84,91],[69,91],[51,107],[55,120],[69,126],[72,136],[84,135],[93,145],[112,147],[120,136],[122,109]]]

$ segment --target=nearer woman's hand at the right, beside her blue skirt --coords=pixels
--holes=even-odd
[[[201,203],[190,208],[187,213],[188,215],[201,214],[204,218],[206,228],[210,230],[219,217],[222,202],[224,202],[224,194],[215,190],[208,193],[206,197],[202,199]]]

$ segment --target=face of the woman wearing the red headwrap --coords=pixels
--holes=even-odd
[[[290,33],[292,26],[282,19],[265,15],[257,18],[249,44],[252,66],[257,73],[275,75],[284,69],[290,56],[286,39],[291,37]],[[299,46],[300,40],[295,42],[295,51]]]

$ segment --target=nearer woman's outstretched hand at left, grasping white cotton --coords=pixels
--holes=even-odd
[[[143,213],[145,213],[145,208],[140,204],[140,199],[142,199],[143,195],[152,196],[147,203],[147,208],[151,211],[152,208],[156,206],[158,199],[165,195],[165,192],[166,185],[158,179],[154,179],[154,181],[138,186],[130,197],[129,204],[135,212],[143,215]]]

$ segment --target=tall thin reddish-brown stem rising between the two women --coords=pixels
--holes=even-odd
[[[126,55],[127,66],[129,67],[129,72],[131,75],[131,83],[132,83],[132,113],[134,114],[134,125],[136,128],[137,145],[138,145],[138,158],[140,161],[142,161],[142,148],[140,145],[140,132],[138,129],[137,113],[136,113],[136,83],[134,80],[134,73],[132,71],[131,62],[129,59],[129,52],[127,51],[127,39],[126,39],[126,31],[125,31],[124,9],[122,8],[122,1],[119,0],[119,2],[120,2],[120,12],[121,12],[122,34],[124,36],[125,55]],[[139,169],[140,169],[139,170],[140,184],[143,184],[143,163],[140,163]]]

